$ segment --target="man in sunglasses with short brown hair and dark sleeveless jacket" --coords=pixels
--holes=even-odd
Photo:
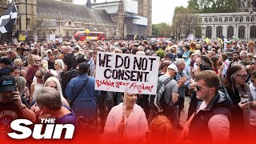
[[[229,94],[221,86],[218,75],[213,70],[204,70],[195,76],[194,89],[198,102],[194,114],[184,125],[182,140],[193,143],[227,143],[230,135]]]

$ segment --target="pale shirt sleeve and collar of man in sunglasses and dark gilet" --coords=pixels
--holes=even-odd
[[[199,106],[197,113],[206,108],[205,101]],[[216,114],[208,122],[213,143],[226,143],[229,141],[230,121],[226,114]]]

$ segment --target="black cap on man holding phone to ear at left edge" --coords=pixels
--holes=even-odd
[[[16,82],[14,77],[10,75],[2,75],[0,77],[0,92],[14,91]]]

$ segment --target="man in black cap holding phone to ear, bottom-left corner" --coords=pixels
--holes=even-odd
[[[36,114],[22,103],[21,96],[15,91],[14,77],[3,75],[0,77],[0,138],[11,132],[10,123],[15,119],[25,118],[36,121]]]

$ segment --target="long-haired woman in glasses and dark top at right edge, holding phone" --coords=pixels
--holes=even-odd
[[[249,136],[250,120],[249,113],[256,110],[256,102],[250,93],[250,87],[246,84],[248,73],[242,64],[230,66],[223,85],[232,99],[231,117],[233,119],[233,130],[230,138],[237,142]],[[238,137],[239,135],[239,137]]]

